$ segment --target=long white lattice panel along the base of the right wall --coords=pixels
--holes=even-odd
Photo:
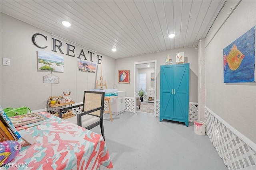
[[[256,170],[256,150],[205,109],[206,131],[229,170]]]

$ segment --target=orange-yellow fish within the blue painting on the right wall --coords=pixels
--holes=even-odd
[[[241,53],[241,51],[237,49],[236,44],[234,44],[230,49],[229,54],[223,56],[224,70],[226,69],[227,63],[231,70],[238,69],[244,57],[245,56]]]

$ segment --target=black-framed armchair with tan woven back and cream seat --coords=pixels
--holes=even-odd
[[[77,113],[76,116],[66,120],[88,130],[100,125],[101,135],[105,140],[103,128],[104,96],[105,92],[84,91],[84,103],[60,109],[60,118],[65,111],[82,107],[81,113]]]

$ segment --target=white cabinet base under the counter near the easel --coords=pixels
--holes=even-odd
[[[125,109],[125,91],[118,91],[117,98],[110,100],[111,112],[113,115],[119,115]]]

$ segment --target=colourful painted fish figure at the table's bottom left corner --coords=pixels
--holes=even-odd
[[[20,152],[21,146],[17,141],[4,141],[0,143],[0,165],[13,160]]]

